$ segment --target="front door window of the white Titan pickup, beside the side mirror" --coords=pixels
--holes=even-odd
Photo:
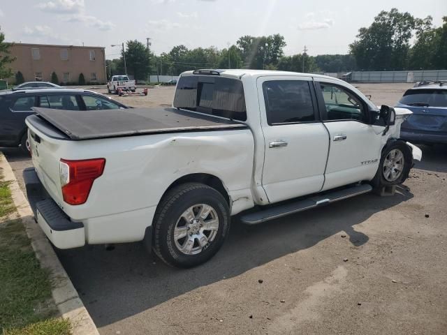
[[[365,121],[365,108],[358,96],[334,84],[320,83],[328,120]]]

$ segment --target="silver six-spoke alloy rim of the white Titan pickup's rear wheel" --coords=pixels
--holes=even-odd
[[[208,204],[186,209],[174,228],[175,246],[185,255],[196,255],[210,246],[219,230],[217,211]]]

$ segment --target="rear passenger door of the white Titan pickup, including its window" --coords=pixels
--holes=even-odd
[[[312,78],[259,77],[264,135],[262,184],[270,203],[315,193],[324,182],[329,137]]]

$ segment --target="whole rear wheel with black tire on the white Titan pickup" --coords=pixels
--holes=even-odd
[[[195,267],[221,248],[230,230],[230,210],[214,188],[187,183],[163,196],[153,225],[154,253],[173,267]]]

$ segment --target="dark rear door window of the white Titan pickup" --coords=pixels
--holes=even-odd
[[[315,121],[309,83],[272,80],[263,83],[268,124]]]

